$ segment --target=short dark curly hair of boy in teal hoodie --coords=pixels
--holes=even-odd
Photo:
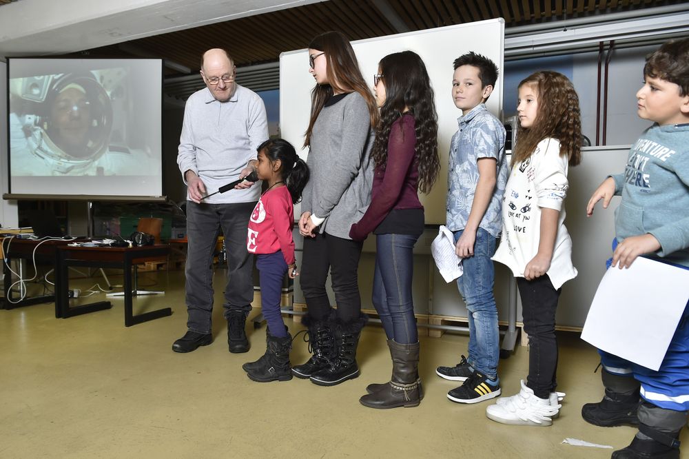
[[[689,38],[670,40],[646,57],[644,76],[679,86],[679,95],[689,94]]]

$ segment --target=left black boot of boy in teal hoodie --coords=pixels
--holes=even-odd
[[[598,403],[586,403],[582,407],[582,418],[601,427],[639,425],[639,382],[631,377],[611,374],[606,369],[602,369],[601,378],[605,396]]]

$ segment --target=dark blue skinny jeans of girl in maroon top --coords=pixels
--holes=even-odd
[[[419,340],[411,297],[414,270],[413,234],[376,236],[376,272],[373,274],[373,306],[389,340],[400,344]]]

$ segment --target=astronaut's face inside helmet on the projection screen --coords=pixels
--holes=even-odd
[[[68,87],[50,108],[48,134],[52,141],[71,156],[87,156],[91,107],[86,94]]]

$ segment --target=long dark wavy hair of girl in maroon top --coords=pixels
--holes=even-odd
[[[431,192],[440,172],[438,155],[438,114],[431,79],[421,57],[413,51],[388,54],[378,63],[385,85],[386,99],[380,108],[380,122],[376,128],[371,158],[376,166],[385,167],[388,140],[392,125],[402,116],[404,108],[415,121],[415,159],[419,167],[419,190]]]

